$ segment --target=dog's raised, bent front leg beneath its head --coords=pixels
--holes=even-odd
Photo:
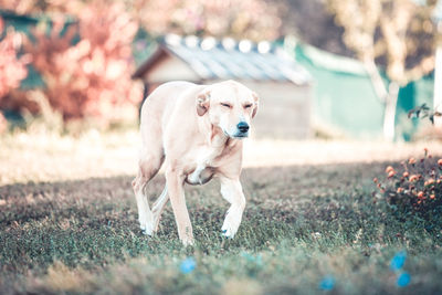
[[[221,231],[224,236],[233,239],[241,223],[242,212],[245,208],[245,198],[239,179],[220,177],[220,180],[221,194],[231,203]]]

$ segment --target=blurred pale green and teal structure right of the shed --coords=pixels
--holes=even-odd
[[[319,129],[356,139],[382,138],[385,105],[359,61],[301,43],[292,46],[291,53],[314,78],[313,119]],[[408,112],[422,104],[432,106],[433,85],[431,74],[399,91],[396,140],[410,140],[428,124],[408,118]]]

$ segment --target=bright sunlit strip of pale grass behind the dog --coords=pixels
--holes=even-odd
[[[0,185],[90,177],[134,176],[138,131],[90,130],[77,137],[52,133],[6,135],[0,139]],[[243,167],[393,161],[424,147],[442,155],[440,143],[244,140]]]

